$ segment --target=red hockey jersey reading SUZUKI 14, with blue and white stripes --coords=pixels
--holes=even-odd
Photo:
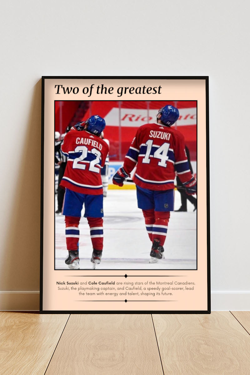
[[[136,163],[134,182],[144,189],[174,189],[175,171],[183,183],[192,178],[184,136],[161,124],[145,124],[137,130],[124,159],[124,170],[129,174]]]

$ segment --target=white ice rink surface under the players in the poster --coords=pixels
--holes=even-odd
[[[57,196],[55,196],[57,205]],[[175,209],[181,205],[175,192]],[[57,209],[57,207],[56,207]],[[196,269],[196,211],[188,201],[188,212],[171,212],[164,245],[165,259],[150,264],[151,242],[142,211],[137,207],[136,190],[108,190],[104,198],[103,255],[96,269]],[[82,215],[84,209],[82,210]],[[92,269],[92,244],[87,219],[80,220],[80,269]],[[55,269],[68,269],[64,216],[55,216]]]

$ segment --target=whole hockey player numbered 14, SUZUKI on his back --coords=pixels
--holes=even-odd
[[[175,171],[187,194],[196,193],[185,152],[184,136],[171,125],[178,120],[179,111],[172,105],[162,107],[157,123],[139,127],[127,152],[123,167],[113,177],[113,183],[123,186],[135,165],[138,207],[142,209],[148,236],[152,242],[150,263],[164,258],[163,245],[168,230],[170,211],[174,211]]]

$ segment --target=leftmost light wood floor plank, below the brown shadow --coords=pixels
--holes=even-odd
[[[1,375],[43,375],[68,317],[0,312]]]

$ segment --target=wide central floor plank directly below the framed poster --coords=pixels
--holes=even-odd
[[[163,375],[150,314],[73,314],[46,375]]]

